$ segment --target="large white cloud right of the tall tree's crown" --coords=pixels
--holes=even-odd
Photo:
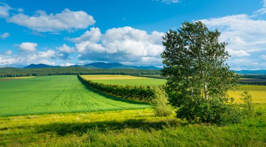
[[[200,21],[209,28],[217,28],[221,32],[219,39],[228,43],[226,49],[232,56],[250,55],[256,51],[266,50],[265,20],[253,20],[248,15],[241,14]]]

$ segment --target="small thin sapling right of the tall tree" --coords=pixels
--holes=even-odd
[[[243,113],[245,116],[247,116],[248,118],[251,118],[254,116],[254,105],[252,102],[252,97],[251,95],[248,93],[248,91],[244,91],[241,94],[241,100],[244,101],[243,104],[241,104],[241,106],[243,107]]]

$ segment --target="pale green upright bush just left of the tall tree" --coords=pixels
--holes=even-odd
[[[169,106],[169,101],[166,91],[160,87],[154,87],[155,98],[152,101],[152,106],[156,116],[169,116],[172,114],[172,109]]]

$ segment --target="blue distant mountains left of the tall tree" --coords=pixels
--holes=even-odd
[[[29,66],[24,67],[24,69],[35,69],[35,68],[60,68],[62,66],[52,66],[46,64],[31,64]],[[104,63],[104,62],[96,62],[90,63],[86,65],[71,65],[68,67],[84,67],[91,69],[141,69],[141,70],[160,70],[161,68],[155,66],[132,66],[132,65],[123,65],[120,63]]]

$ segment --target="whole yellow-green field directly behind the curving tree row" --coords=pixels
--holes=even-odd
[[[81,76],[86,79],[104,84],[158,86],[166,83],[165,79],[147,78],[132,75],[99,74]]]

